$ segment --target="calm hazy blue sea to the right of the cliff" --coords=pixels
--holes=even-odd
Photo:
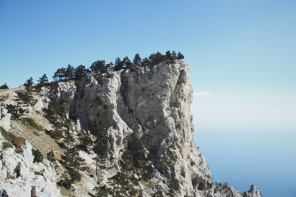
[[[214,182],[238,191],[259,187],[265,197],[296,197],[295,131],[203,131],[194,133]]]

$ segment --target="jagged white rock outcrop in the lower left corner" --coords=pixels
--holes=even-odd
[[[61,196],[51,162],[44,159],[44,164],[33,164],[32,146],[28,141],[21,145],[21,153],[16,153],[14,146],[3,150],[4,141],[0,133],[0,196]]]

